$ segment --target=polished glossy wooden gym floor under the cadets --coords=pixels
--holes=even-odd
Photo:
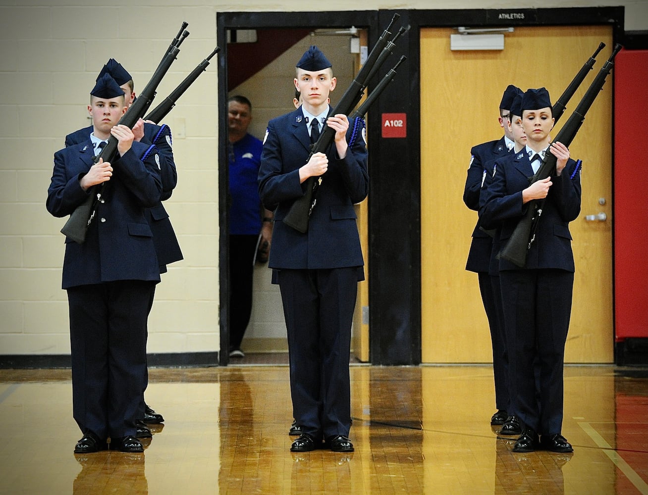
[[[288,367],[152,368],[143,454],[73,454],[69,369],[0,370],[2,494],[648,494],[648,369],[566,366],[573,454],[511,452],[489,366],[351,365],[355,452],[289,451]]]

